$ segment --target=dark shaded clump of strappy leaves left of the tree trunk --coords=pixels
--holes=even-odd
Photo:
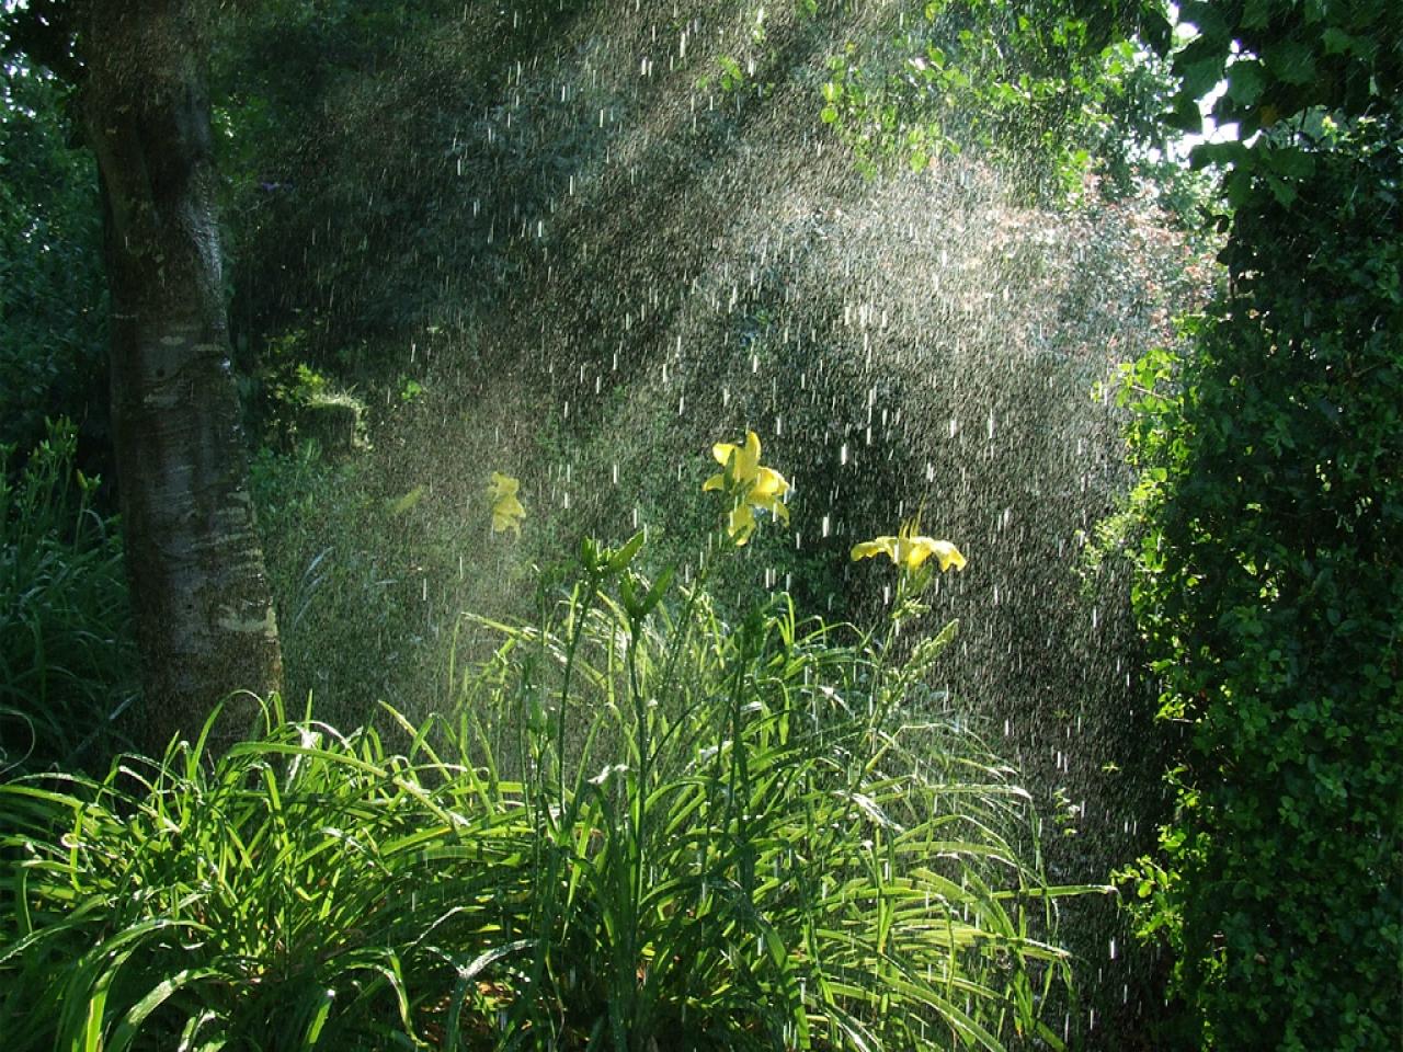
[[[136,682],[122,543],[93,508],[72,424],[24,467],[0,446],[0,770],[102,767]]]

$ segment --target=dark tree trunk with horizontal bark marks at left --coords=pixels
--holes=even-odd
[[[147,722],[159,755],[282,658],[230,370],[201,11],[88,0],[81,116],[102,182],[112,431]],[[213,746],[248,731],[234,694]]]

